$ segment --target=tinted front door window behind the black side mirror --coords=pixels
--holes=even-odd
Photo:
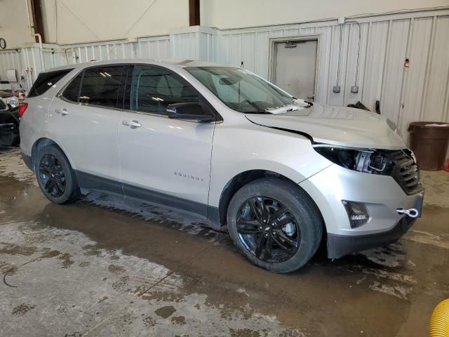
[[[196,90],[169,70],[159,67],[134,67],[130,110],[166,114],[172,103],[199,102]]]

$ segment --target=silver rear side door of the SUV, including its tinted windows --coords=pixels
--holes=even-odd
[[[126,68],[89,67],[51,103],[51,137],[71,159],[81,186],[121,192],[117,124]]]

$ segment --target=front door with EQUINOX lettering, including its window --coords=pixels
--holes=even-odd
[[[166,115],[168,104],[199,102],[199,94],[159,66],[135,65],[128,82],[129,110],[119,121],[123,192],[206,216],[215,123]]]

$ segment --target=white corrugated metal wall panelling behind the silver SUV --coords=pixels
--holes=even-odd
[[[330,105],[348,105],[357,100],[374,109],[380,100],[382,114],[398,124],[407,136],[410,121],[449,122],[449,10],[401,13],[356,19],[342,26],[340,93],[337,81],[340,26],[336,21],[311,22],[283,27],[217,30],[191,27],[177,34],[149,37],[135,42],[109,41],[95,44],[53,46],[52,53],[22,48],[0,52],[0,76],[16,68],[34,81],[42,67],[89,60],[120,58],[187,58],[243,65],[269,78],[272,39],[319,38],[316,100]],[[358,36],[358,93],[356,81]],[[404,67],[408,58],[410,67]],[[43,60],[43,64],[41,63]],[[33,72],[31,72],[31,69]]]

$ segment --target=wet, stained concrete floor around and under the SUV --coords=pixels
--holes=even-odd
[[[424,214],[397,244],[275,275],[194,218],[51,204],[0,149],[0,336],[427,336],[449,297],[449,173],[422,176]]]

